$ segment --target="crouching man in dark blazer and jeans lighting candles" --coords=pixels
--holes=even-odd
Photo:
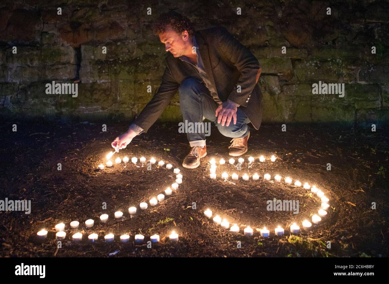
[[[251,122],[258,130],[262,119],[262,93],[257,85],[261,67],[255,56],[226,28],[195,32],[189,19],[176,12],[161,14],[154,32],[170,52],[161,86],[112,147],[123,149],[136,135],[146,132],[178,90],[184,121],[214,121],[224,136],[232,138],[229,154],[246,153],[247,124]],[[205,133],[187,133],[187,138],[191,150],[182,166],[196,168],[207,155]]]

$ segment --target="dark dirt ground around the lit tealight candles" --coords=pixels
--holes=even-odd
[[[17,131],[12,131],[12,124]],[[238,172],[233,166],[217,168],[216,180],[209,178],[209,160],[228,160],[230,138],[223,137],[212,126],[207,137],[207,156],[200,167],[182,168],[182,159],[189,151],[185,134],[178,133],[177,124],[155,124],[136,137],[130,146],[115,154],[120,156],[152,156],[179,167],[183,183],[177,193],[155,207],[139,210],[132,218],[128,207],[148,202],[163,193],[174,182],[173,170],[165,167],[136,167],[129,163],[97,170],[111,151],[110,142],[126,130],[126,124],[102,123],[47,123],[12,121],[0,126],[0,199],[31,200],[32,212],[0,211],[0,256],[56,256],[56,257],[312,257],[312,256],[389,256],[387,219],[389,137],[388,128],[352,128],[336,125],[288,124],[282,132],[280,125],[262,125],[251,129],[249,151],[242,157],[241,174],[257,172],[258,181],[236,184],[224,182],[221,173]],[[259,163],[259,156],[278,159]],[[256,158],[247,168],[247,158]],[[237,158],[236,158],[237,159]],[[62,170],[57,170],[61,163]],[[331,170],[327,164],[331,163]],[[141,165],[138,161],[137,165]],[[320,199],[310,190],[287,186],[284,182],[263,180],[263,174],[290,176],[301,182],[316,184],[330,199],[328,215],[312,230],[301,230],[290,235],[289,225],[309,219],[320,207]],[[294,182],[294,181],[293,181]],[[268,211],[267,200],[299,200],[300,212]],[[107,209],[102,209],[103,202]],[[196,209],[192,209],[196,202]],[[376,209],[371,209],[372,202]],[[203,211],[214,211],[230,223],[238,223],[241,231],[231,233],[212,223]],[[114,219],[116,210],[124,217]],[[98,218],[107,213],[110,219],[100,223]],[[82,226],[86,219],[94,219],[93,228]],[[70,229],[70,221],[80,221],[80,229]],[[54,226],[66,224],[67,237],[57,247]],[[254,236],[243,235],[246,225],[254,228]],[[285,228],[284,236],[275,236],[273,229]],[[260,237],[256,228],[266,226],[270,237]],[[46,228],[44,242],[36,240],[36,233]],[[179,242],[172,243],[168,235],[179,233]],[[72,242],[75,231],[84,233],[79,243]],[[90,243],[89,233],[96,232],[99,240]],[[115,234],[115,241],[104,242],[104,235]],[[130,242],[122,244],[119,236],[127,233]],[[134,244],[134,235],[145,235],[145,242],[155,233],[161,242],[147,248]],[[241,247],[237,247],[237,242]],[[331,248],[327,248],[327,242]]]

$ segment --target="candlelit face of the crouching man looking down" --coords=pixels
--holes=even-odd
[[[170,51],[174,57],[191,54],[192,42],[187,31],[179,35],[171,27],[167,27],[165,32],[159,34],[159,39],[165,44],[165,50]]]

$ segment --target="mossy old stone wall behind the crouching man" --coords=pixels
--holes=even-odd
[[[349,0],[3,1],[2,114],[131,120],[160,84],[166,53],[150,28],[169,9],[196,29],[225,26],[251,49],[263,68],[264,122],[389,118],[389,2]],[[79,82],[77,98],[47,95],[51,81]],[[313,95],[319,81],[344,83],[345,96]],[[178,98],[161,120],[181,119]]]

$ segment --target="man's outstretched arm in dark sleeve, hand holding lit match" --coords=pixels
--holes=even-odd
[[[163,73],[162,82],[158,91],[140,112],[138,117],[133,121],[128,131],[116,137],[116,139],[111,143],[112,147],[114,147],[116,151],[123,149],[135,136],[142,132],[147,132],[151,125],[154,124],[159,116],[161,116],[163,110],[165,110],[172,101],[172,98],[175,93],[177,93],[179,86],[180,85],[177,81],[175,81],[166,61],[165,72]]]

